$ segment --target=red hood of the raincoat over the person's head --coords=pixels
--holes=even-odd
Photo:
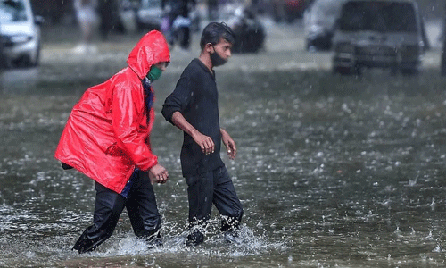
[[[169,45],[158,30],[152,30],[139,40],[128,55],[128,67],[143,79],[153,64],[170,62]]]

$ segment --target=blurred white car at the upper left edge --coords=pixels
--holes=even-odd
[[[0,0],[0,36],[8,67],[38,65],[42,22],[33,15],[29,0]]]

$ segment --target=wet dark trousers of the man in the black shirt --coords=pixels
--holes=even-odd
[[[222,231],[238,227],[244,211],[226,167],[186,177],[186,183],[191,227],[202,225],[211,218],[212,204],[226,216],[221,222]]]

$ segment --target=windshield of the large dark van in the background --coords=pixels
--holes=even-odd
[[[417,32],[413,4],[350,1],[343,5],[339,28],[345,31]]]

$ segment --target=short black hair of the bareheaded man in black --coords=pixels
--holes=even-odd
[[[227,40],[231,44],[235,42],[235,34],[225,22],[211,22],[202,30],[200,47],[203,49],[208,43],[216,45],[219,43],[220,38]]]

